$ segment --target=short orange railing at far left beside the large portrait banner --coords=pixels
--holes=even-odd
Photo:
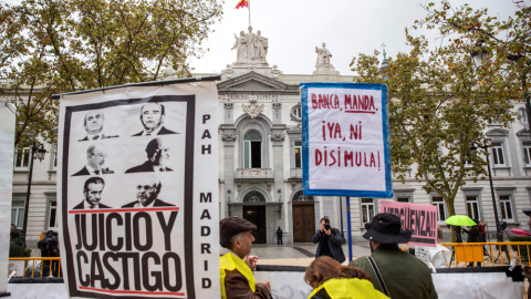
[[[18,269],[22,264],[23,268]],[[8,267],[9,275],[15,271],[14,277],[61,277],[61,258],[59,257],[9,258]]]

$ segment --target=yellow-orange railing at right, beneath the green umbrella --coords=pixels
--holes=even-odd
[[[459,262],[481,262],[482,266],[508,266],[514,259],[517,265],[530,265],[531,241],[493,243],[441,243],[452,251],[447,267],[459,267]],[[516,246],[516,250],[511,247]],[[518,257],[518,258],[517,258]]]

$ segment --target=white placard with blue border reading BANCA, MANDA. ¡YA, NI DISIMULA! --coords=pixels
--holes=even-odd
[[[301,83],[304,195],[393,197],[387,86]]]

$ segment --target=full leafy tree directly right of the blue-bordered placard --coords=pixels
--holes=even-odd
[[[482,155],[470,151],[471,142],[483,138],[482,130],[493,118],[511,121],[510,87],[499,68],[475,70],[470,40],[430,49],[424,37],[406,30],[406,38],[410,52],[389,59],[383,72],[377,51],[360,54],[351,66],[358,74],[356,82],[388,86],[395,173],[404,181],[415,165],[415,178],[444,198],[451,216],[465,178],[476,182],[487,172]]]

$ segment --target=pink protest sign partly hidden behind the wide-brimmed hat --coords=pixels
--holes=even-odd
[[[402,229],[412,230],[407,245],[437,246],[436,206],[382,200],[379,212],[398,216]]]

